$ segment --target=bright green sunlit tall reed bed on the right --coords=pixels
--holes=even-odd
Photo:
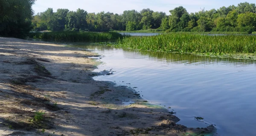
[[[255,53],[256,36],[169,33],[150,37],[124,37],[115,46],[165,52]]]

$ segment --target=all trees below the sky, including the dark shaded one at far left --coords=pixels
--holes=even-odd
[[[149,8],[87,13],[84,9],[69,11],[52,8],[34,15],[35,0],[0,0],[0,36],[25,38],[32,31],[256,31],[256,6],[239,3],[205,11],[187,12],[182,6],[170,10],[170,15]]]

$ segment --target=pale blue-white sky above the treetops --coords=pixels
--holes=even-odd
[[[70,11],[81,8],[88,13],[109,11],[114,14],[122,14],[125,10],[141,11],[143,8],[150,8],[153,11],[163,11],[169,15],[169,10],[178,6],[183,6],[191,13],[198,12],[201,8],[205,10],[218,9],[222,6],[237,6],[244,2],[256,3],[255,0],[36,0],[32,8],[35,14],[44,12],[47,8],[53,8],[54,12],[58,8],[67,8]]]

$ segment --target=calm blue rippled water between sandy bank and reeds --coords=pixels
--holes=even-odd
[[[187,127],[216,125],[221,136],[256,136],[256,64],[188,54],[76,46],[104,55],[96,80],[127,85],[152,104],[171,107]],[[197,121],[196,117],[204,120]]]

